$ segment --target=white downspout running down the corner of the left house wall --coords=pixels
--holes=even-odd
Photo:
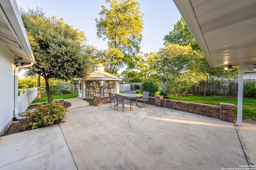
[[[14,69],[14,117],[16,119],[26,119],[28,117],[19,117],[18,115],[18,71],[20,68],[26,68],[29,66],[32,66],[34,64],[34,61],[32,61],[30,64],[18,66]]]

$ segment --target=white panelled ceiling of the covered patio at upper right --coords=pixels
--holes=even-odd
[[[256,64],[256,0],[173,0],[213,68]]]

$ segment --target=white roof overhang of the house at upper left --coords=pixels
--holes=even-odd
[[[35,62],[15,0],[0,0],[0,41],[22,62]]]

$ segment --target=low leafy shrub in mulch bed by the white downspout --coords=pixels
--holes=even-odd
[[[24,129],[36,129],[40,127],[52,126],[60,123],[66,115],[68,109],[61,106],[59,103],[38,104],[34,113],[28,112],[28,123],[24,125]]]

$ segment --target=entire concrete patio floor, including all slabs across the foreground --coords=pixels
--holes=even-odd
[[[77,106],[59,125],[0,137],[0,169],[221,170],[256,164],[256,125],[237,127],[152,105],[130,111],[126,104],[123,113],[109,104]]]

